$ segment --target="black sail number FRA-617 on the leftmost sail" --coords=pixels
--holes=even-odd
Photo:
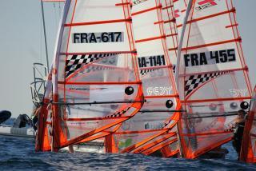
[[[123,32],[74,33],[73,43],[124,42]]]

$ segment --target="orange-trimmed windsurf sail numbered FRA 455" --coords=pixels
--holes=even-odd
[[[178,92],[186,110],[178,132],[182,156],[195,158],[232,139],[232,121],[248,107],[251,86],[232,0],[178,0],[174,9]]]

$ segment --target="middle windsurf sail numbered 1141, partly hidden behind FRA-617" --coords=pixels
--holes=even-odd
[[[116,152],[149,155],[177,141],[174,126],[181,104],[166,46],[161,1],[134,0],[131,16],[146,102],[138,114],[122,123],[113,139]]]

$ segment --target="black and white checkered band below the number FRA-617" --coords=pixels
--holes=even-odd
[[[116,54],[82,54],[82,55],[69,55],[66,59],[66,78],[70,74],[74,73],[82,66],[89,64],[91,62],[97,61],[100,58],[114,56]]]

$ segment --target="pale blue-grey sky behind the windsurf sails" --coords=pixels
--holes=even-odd
[[[243,51],[250,70],[251,84],[256,79],[256,0],[234,0]],[[54,56],[62,3],[45,3],[46,35],[50,64]],[[30,115],[33,103],[30,83],[33,63],[46,64],[40,0],[8,0],[0,6],[0,110],[7,109],[12,117]]]

